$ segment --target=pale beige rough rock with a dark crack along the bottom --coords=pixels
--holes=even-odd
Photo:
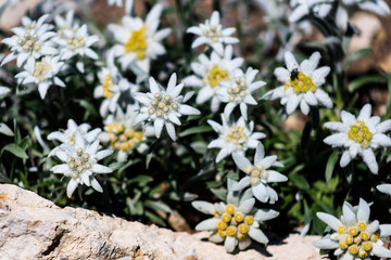
[[[230,255],[200,240],[207,232],[175,233],[92,210],[60,208],[15,185],[0,184],[0,259],[320,260],[311,245],[315,236],[293,234],[267,251],[256,245]]]

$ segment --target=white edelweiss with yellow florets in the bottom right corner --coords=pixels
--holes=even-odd
[[[369,205],[360,198],[358,207],[344,203],[340,219],[324,212],[316,216],[335,232],[326,235],[313,245],[320,249],[336,249],[333,255],[343,260],[370,260],[370,256],[390,258],[391,251],[383,247],[379,237],[391,235],[391,224],[369,222]]]

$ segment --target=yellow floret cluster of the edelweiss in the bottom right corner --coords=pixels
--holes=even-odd
[[[356,225],[346,227],[341,225],[337,232],[339,234],[339,247],[355,257],[366,258],[373,248],[373,243],[379,239],[377,233],[369,233],[366,230],[367,225],[360,222]]]

